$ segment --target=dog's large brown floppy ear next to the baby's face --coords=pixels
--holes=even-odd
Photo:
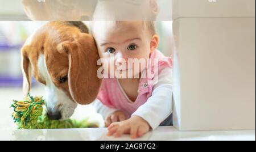
[[[71,96],[79,104],[90,104],[97,98],[101,79],[97,77],[98,51],[92,36],[81,33],[79,40],[64,41],[57,46],[68,53],[68,85]]]

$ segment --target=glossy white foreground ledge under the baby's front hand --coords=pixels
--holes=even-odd
[[[120,138],[106,136],[106,128],[86,129],[43,129],[43,130],[12,130],[1,129],[0,140],[131,140],[127,135]],[[255,130],[179,132],[172,126],[159,127],[136,140],[253,140]]]

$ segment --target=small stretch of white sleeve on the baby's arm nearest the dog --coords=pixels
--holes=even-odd
[[[101,116],[106,119],[111,113],[117,111],[118,109],[112,109],[102,104],[100,100],[96,99],[93,102],[93,107],[96,108],[96,111],[101,114]]]

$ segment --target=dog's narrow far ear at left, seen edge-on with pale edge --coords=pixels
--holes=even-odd
[[[31,88],[31,64],[27,56],[26,47],[21,49],[22,54],[22,73],[23,73],[23,93],[27,96]]]

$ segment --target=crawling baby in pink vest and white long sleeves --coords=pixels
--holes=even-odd
[[[157,50],[154,22],[95,21],[92,31],[104,71],[94,104],[109,136],[137,138],[172,125],[172,61]]]

